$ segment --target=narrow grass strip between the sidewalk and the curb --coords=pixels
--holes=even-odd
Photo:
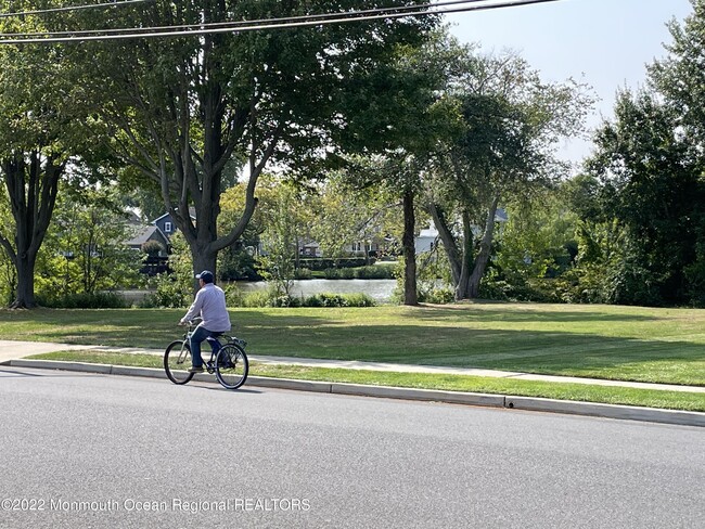
[[[162,357],[100,351],[60,351],[27,357],[36,360],[61,360],[139,367],[163,367]],[[308,367],[289,364],[251,363],[249,374],[300,380],[364,384],[448,391],[469,391],[516,397],[638,405],[667,410],[705,412],[705,393],[598,386],[572,383],[515,380],[483,376],[397,373],[369,370]]]

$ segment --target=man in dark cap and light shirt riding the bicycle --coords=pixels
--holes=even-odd
[[[179,321],[180,325],[185,325],[194,318],[201,317],[203,320],[191,335],[191,369],[190,373],[201,373],[203,371],[203,359],[201,358],[201,343],[208,336],[220,336],[222,333],[230,331],[230,315],[226,308],[226,294],[222,288],[214,283],[213,272],[204,270],[196,274],[201,288],[196,293],[193,304],[189,311]]]

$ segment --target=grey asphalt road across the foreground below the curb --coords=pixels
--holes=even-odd
[[[0,366],[0,527],[695,528],[705,430]]]

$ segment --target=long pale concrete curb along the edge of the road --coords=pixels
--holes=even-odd
[[[63,362],[53,360],[10,360],[0,365],[12,367],[30,367],[46,370],[77,371],[106,375],[144,376],[166,378],[164,370],[153,367],[132,367],[127,365],[91,364],[84,362]],[[213,383],[213,375],[196,374],[196,382]],[[334,395],[354,395],[386,399],[418,400],[426,402],[447,402],[477,407],[508,408],[571,415],[586,415],[627,421],[642,421],[681,426],[705,427],[705,413],[679,410],[663,410],[618,404],[600,404],[568,400],[540,399],[533,397],[513,397],[504,395],[472,393],[462,391],[441,391],[433,389],[396,388],[389,386],[366,386],[361,384],[324,383],[297,380],[290,378],[269,378],[262,376],[247,377],[247,386],[291,389],[296,391],[315,391]]]

